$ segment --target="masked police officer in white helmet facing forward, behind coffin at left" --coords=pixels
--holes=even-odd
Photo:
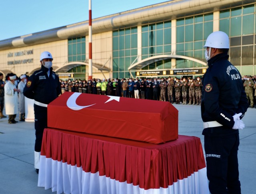
[[[44,51],[40,55],[41,69],[35,71],[27,81],[23,94],[34,99],[35,112],[35,163],[36,172],[39,172],[40,151],[44,128],[47,127],[47,105],[61,93],[58,74],[52,71],[52,54]]]

